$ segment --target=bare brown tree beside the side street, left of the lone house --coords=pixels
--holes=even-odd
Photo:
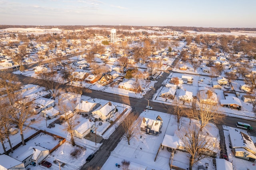
[[[141,123],[135,115],[136,114],[129,114],[121,123],[124,131],[124,139],[128,141],[128,145],[130,145],[130,140],[136,135],[136,128],[138,125],[134,125],[134,123]]]

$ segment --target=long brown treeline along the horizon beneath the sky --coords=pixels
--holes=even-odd
[[[256,28],[215,28],[215,27],[184,27],[184,26],[132,26],[132,25],[0,25],[0,29],[6,28],[42,28],[42,29],[51,29],[51,28],[58,28],[58,29],[84,29],[88,27],[100,27],[100,28],[116,28],[116,29],[127,29],[131,30],[134,29],[155,29],[156,27],[159,30],[168,28],[172,29],[173,31],[206,31],[206,32],[231,32],[231,31],[256,31]]]

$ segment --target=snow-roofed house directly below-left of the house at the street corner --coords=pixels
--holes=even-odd
[[[94,127],[95,123],[91,119],[84,119],[83,121],[79,122],[76,127],[74,127],[72,130],[73,135],[83,139],[88,133],[90,133],[90,130],[94,129]]]

